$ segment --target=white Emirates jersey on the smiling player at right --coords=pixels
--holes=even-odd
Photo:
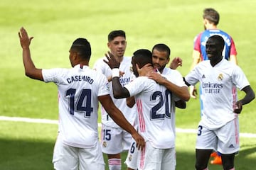
[[[202,122],[209,129],[220,128],[230,120],[237,118],[233,106],[237,99],[233,86],[243,89],[250,85],[237,65],[223,59],[214,67],[210,60],[200,62],[185,77],[188,84],[200,81],[202,89]]]

